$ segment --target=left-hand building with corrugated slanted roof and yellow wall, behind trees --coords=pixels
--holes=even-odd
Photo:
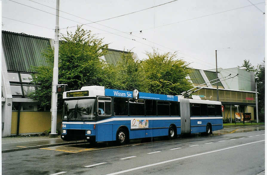
[[[27,97],[37,87],[31,83],[31,66],[47,65],[42,57],[53,39],[2,31],[2,136],[42,133],[51,127],[50,109],[38,110],[37,102]],[[108,47],[107,47],[108,48]],[[116,65],[128,52],[107,49],[100,59]],[[137,57],[135,53],[132,53]],[[57,123],[62,117],[58,114]]]

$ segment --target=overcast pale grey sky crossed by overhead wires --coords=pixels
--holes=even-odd
[[[142,10],[83,28],[104,38],[109,48],[132,50],[139,59],[147,58],[145,52],[154,47],[160,53],[177,51],[177,59],[204,70],[215,68],[215,50],[222,68],[242,65],[244,59],[253,65],[263,61],[264,0],[170,1],[60,0],[60,33]],[[55,8],[56,0],[3,0],[2,30],[54,39]]]

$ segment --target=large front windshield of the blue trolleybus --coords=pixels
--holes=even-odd
[[[96,99],[68,100],[64,102],[63,120],[92,120],[96,118]]]

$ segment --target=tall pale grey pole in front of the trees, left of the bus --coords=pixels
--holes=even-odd
[[[52,102],[51,102],[51,133],[49,137],[57,137],[56,133],[56,118],[57,118],[57,93],[56,86],[58,84],[59,75],[59,0],[56,0],[56,27],[55,27],[55,42],[54,42],[54,68],[52,82]]]

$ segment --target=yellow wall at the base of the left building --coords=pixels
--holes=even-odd
[[[18,112],[12,112],[11,134],[17,133]],[[57,115],[57,123],[62,116]],[[51,128],[50,112],[21,111],[19,117],[19,133],[39,133]]]

